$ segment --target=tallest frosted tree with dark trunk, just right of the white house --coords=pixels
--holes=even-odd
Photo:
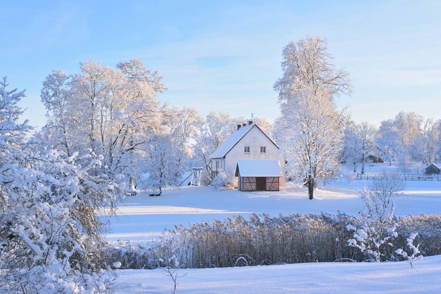
[[[339,167],[342,115],[334,98],[349,93],[348,74],[336,70],[327,43],[317,36],[289,43],[282,70],[274,85],[282,111],[274,134],[285,150],[288,176],[305,180],[312,199],[316,181]]]

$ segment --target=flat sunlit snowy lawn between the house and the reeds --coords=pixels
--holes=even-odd
[[[125,198],[119,213],[111,219],[109,241],[151,239],[163,229],[176,224],[223,220],[228,216],[250,213],[349,213],[362,209],[358,191],[364,181],[345,180],[328,183],[315,191],[309,200],[307,189],[288,183],[281,191],[216,191],[213,187],[181,187],[164,191],[162,196],[146,193]],[[406,189],[396,200],[396,215],[441,212],[441,182],[406,182]]]

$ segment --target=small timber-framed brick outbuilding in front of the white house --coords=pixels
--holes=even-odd
[[[278,160],[238,160],[236,176],[240,191],[278,191],[285,184]]]

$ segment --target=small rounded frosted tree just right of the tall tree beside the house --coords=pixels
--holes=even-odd
[[[364,174],[369,156],[376,154],[376,133],[376,127],[367,122],[351,123],[345,128],[343,158],[353,165],[354,173],[361,164],[361,174]]]

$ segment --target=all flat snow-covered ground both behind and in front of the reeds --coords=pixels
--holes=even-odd
[[[160,197],[128,197],[111,220],[110,242],[151,240],[175,224],[224,219],[250,213],[349,213],[362,209],[358,191],[364,181],[338,180],[315,191],[288,184],[278,192],[216,191],[181,187]],[[396,215],[441,212],[441,182],[408,181],[396,200]],[[407,262],[320,263],[227,269],[182,269],[176,293],[441,293],[441,256],[411,268]],[[170,293],[173,283],[162,269],[124,270],[117,293]]]

